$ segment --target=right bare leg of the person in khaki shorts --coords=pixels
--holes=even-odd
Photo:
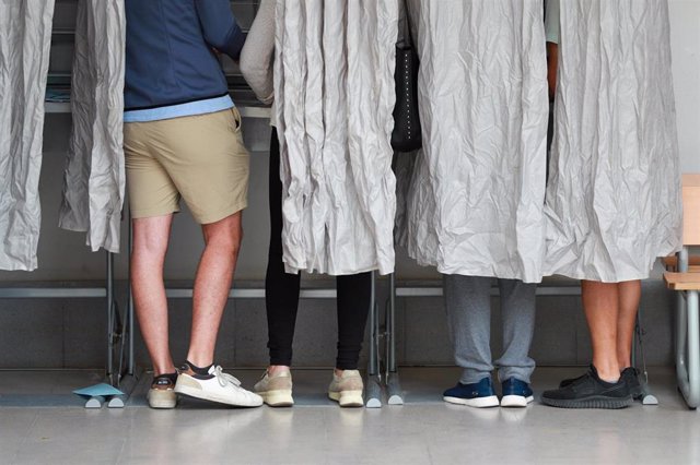
[[[221,317],[243,238],[241,212],[202,225],[205,251],[199,261],[192,295],[192,334],[187,360],[198,367],[213,362]]]

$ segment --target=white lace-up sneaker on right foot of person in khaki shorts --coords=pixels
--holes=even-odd
[[[175,392],[202,401],[218,402],[236,407],[259,407],[262,397],[241,388],[241,381],[212,366],[208,375],[196,374],[189,366],[180,371]]]

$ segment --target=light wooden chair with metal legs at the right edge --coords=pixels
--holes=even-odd
[[[700,246],[700,174],[682,177],[682,250],[666,260],[666,287],[677,291],[676,374],[678,388],[688,404],[700,405],[700,258],[690,258],[689,248]]]

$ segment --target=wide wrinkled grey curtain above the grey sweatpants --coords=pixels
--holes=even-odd
[[[411,0],[410,14],[423,150],[407,193],[408,252],[445,274],[539,282],[549,114],[542,2]]]

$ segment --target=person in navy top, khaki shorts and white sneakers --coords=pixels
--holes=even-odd
[[[237,60],[245,35],[228,0],[126,0],[124,144],[133,227],[131,285],[141,334],[154,370],[153,408],[177,394],[259,406],[214,366],[214,345],[233,279],[247,205],[248,153],[241,115],[229,96],[218,53]],[[163,263],[173,214],[183,199],[201,225],[186,362],[168,347]]]

